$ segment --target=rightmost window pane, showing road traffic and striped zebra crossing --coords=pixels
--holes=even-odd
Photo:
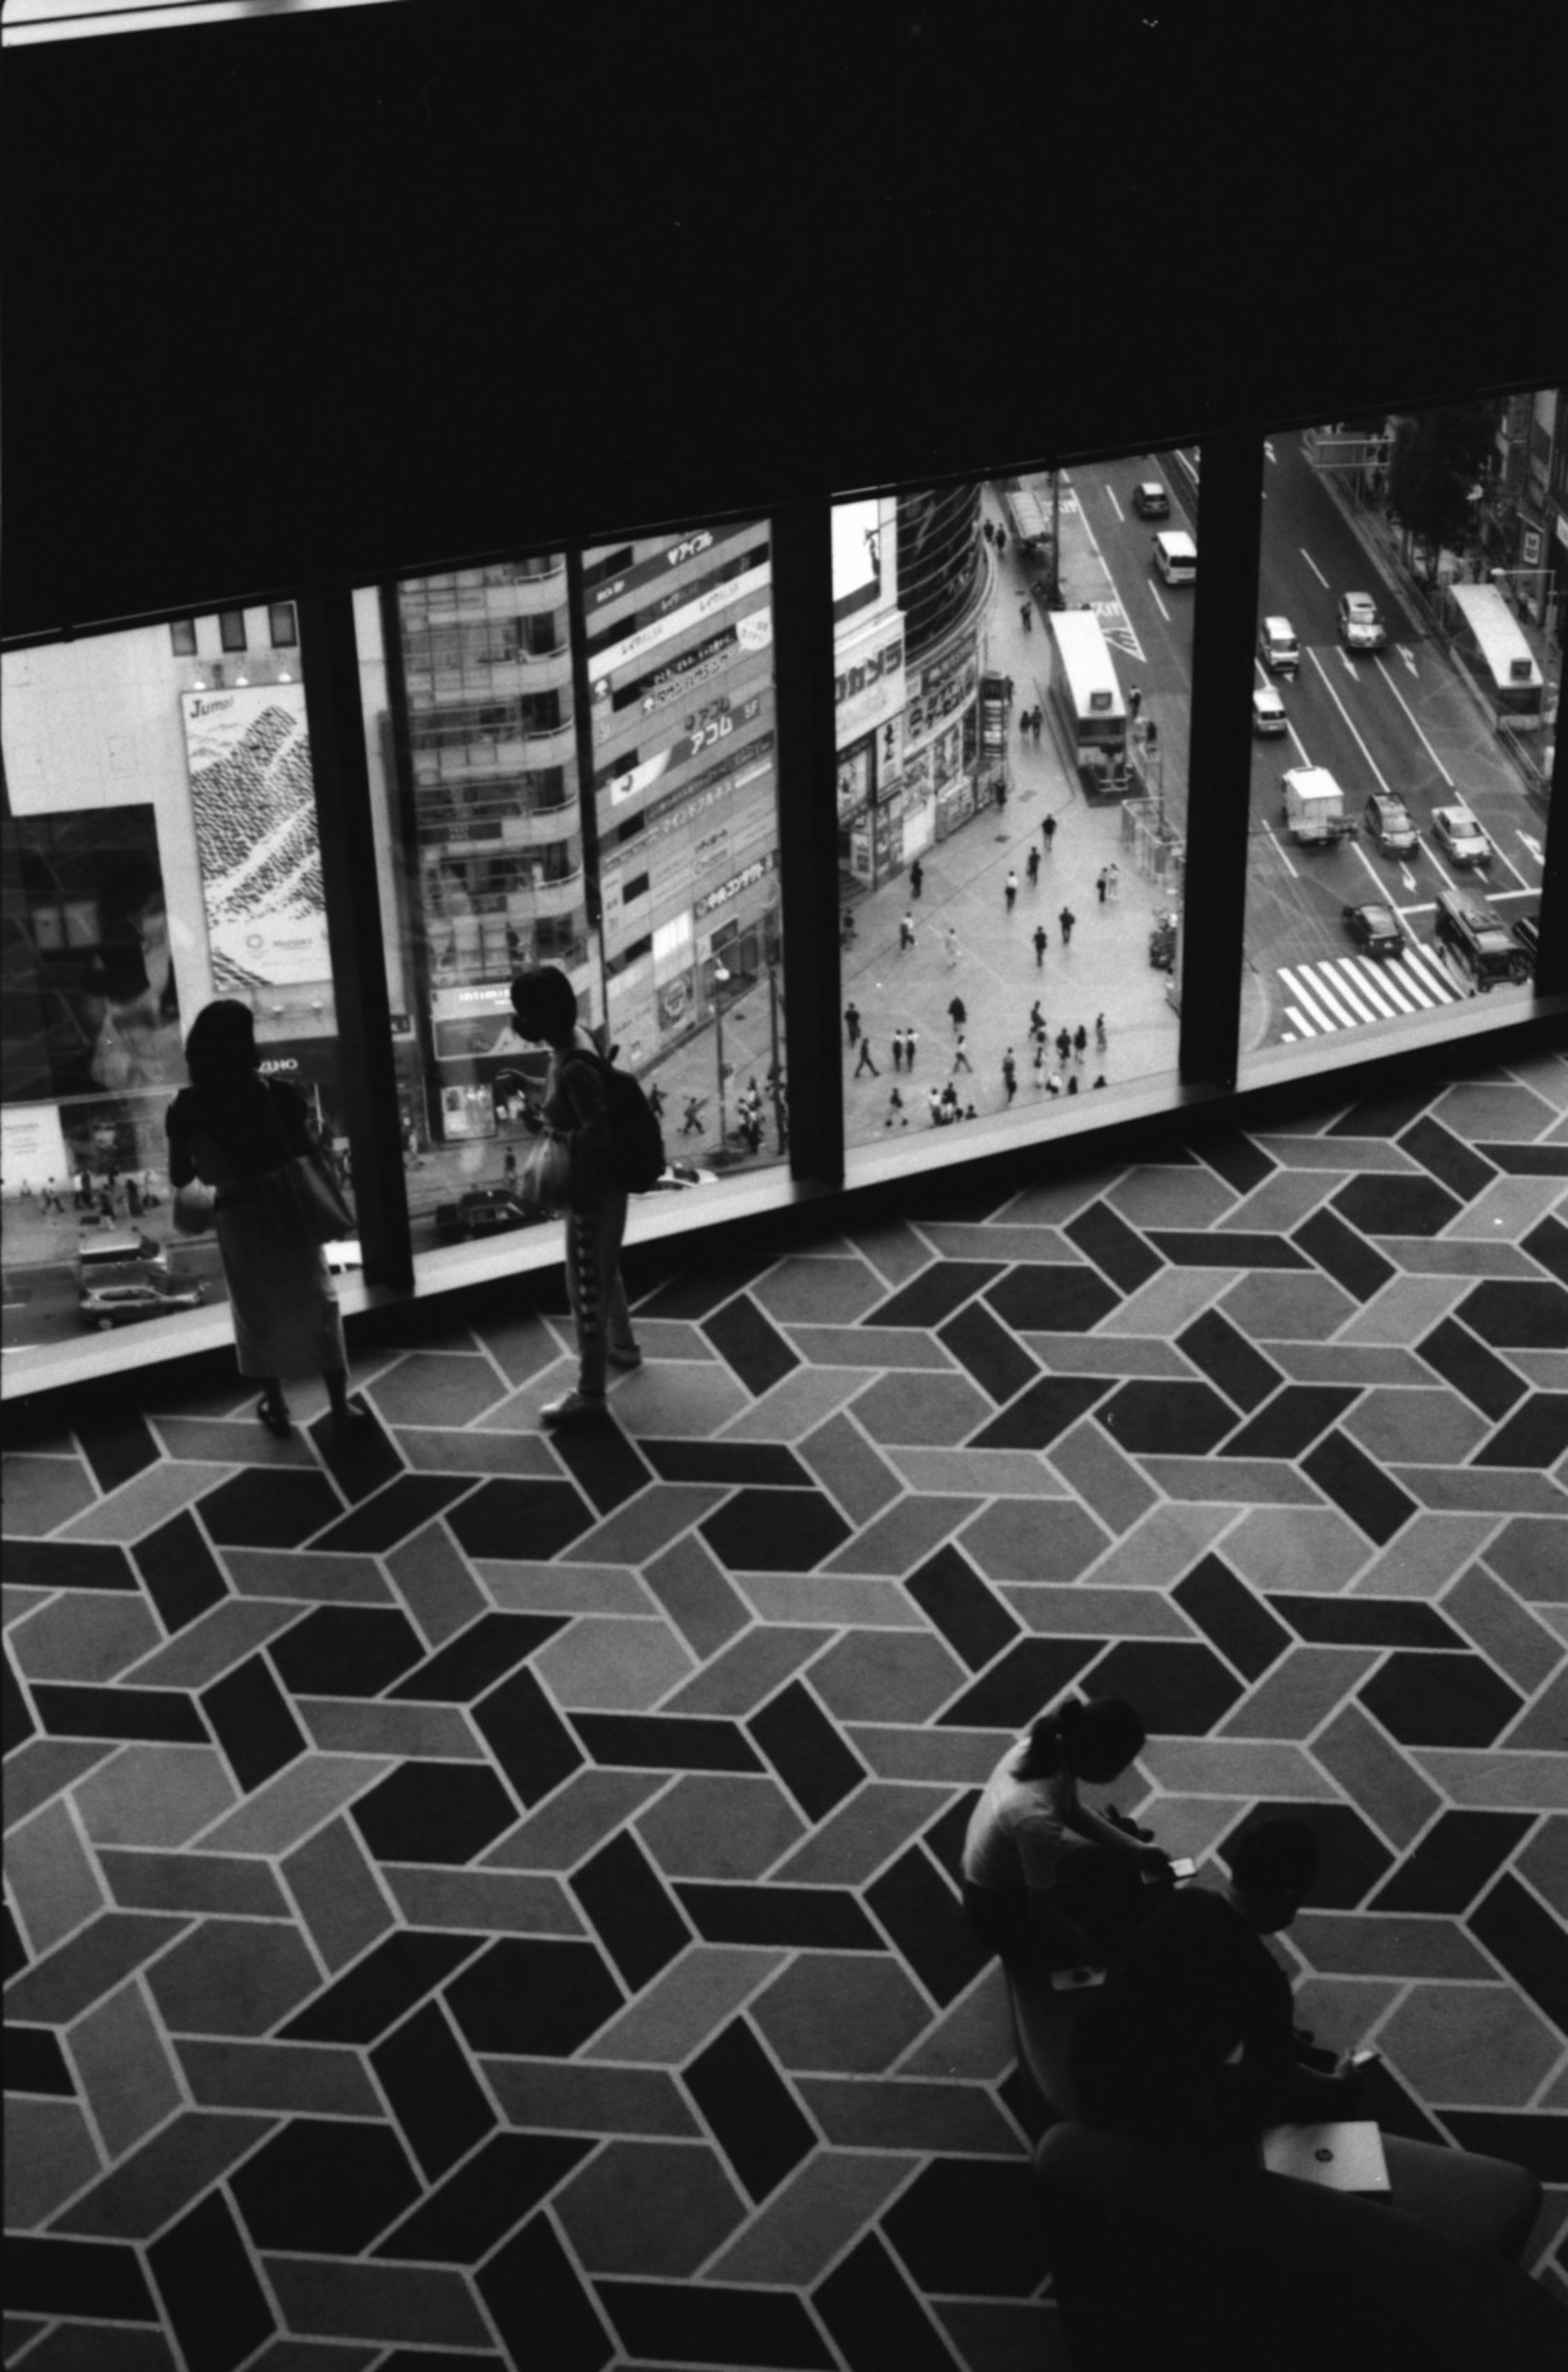
[[[1528,999],[1568,567],[1559,389],[1267,451],[1253,1072]]]

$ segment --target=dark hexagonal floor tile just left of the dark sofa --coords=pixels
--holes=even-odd
[[[1032,2298],[1048,2270],[1027,2163],[932,2159],[887,2208],[882,2232],[923,2291]]]

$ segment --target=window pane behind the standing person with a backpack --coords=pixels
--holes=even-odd
[[[766,522],[358,595],[415,1250],[522,1219],[529,963],[662,1105],[667,1191],[780,1158],[771,600]]]

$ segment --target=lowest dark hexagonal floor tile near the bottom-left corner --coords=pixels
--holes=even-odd
[[[294,2116],[228,2177],[259,2249],[358,2256],[420,2196],[387,2125]]]

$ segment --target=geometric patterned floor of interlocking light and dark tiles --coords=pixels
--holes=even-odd
[[[7,2365],[1063,2365],[954,1879],[1070,1684],[1172,1853],[1314,1824],[1305,2023],[1568,2298],[1568,1065],[629,1283],[595,1437],[527,1279],[351,1345],[353,1454],[12,1428]]]

